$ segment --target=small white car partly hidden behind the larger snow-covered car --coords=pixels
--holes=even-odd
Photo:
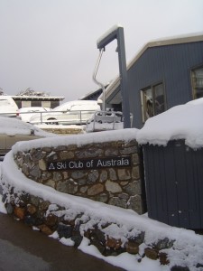
[[[24,122],[30,122],[31,117],[33,115],[41,117],[42,116],[41,113],[47,112],[47,111],[51,111],[51,108],[50,107],[22,107],[22,108],[18,109],[18,116]],[[37,113],[39,113],[39,114],[37,114]]]

